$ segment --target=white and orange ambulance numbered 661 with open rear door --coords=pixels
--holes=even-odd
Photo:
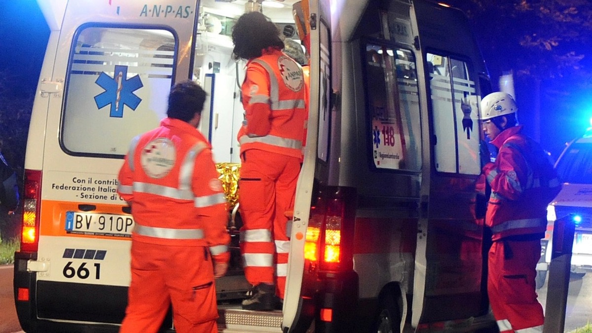
[[[199,129],[220,169],[237,175],[246,64],[231,58],[230,34],[251,10],[307,44],[307,145],[283,308],[240,308],[252,286],[240,268],[240,220],[229,217],[220,332],[497,332],[479,186],[478,107],[491,84],[461,11],[427,0],[38,4],[51,33],[15,252],[25,332],[118,330],[134,220],[117,172],[130,140],[165,117],[175,82],[206,89]],[[171,313],[163,332],[175,329]]]

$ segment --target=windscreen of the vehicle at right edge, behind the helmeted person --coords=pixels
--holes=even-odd
[[[592,184],[592,140],[573,143],[557,163],[559,179],[572,184]]]

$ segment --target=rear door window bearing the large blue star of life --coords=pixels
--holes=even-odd
[[[60,144],[121,158],[166,116],[176,40],[161,29],[83,26],[70,51]]]

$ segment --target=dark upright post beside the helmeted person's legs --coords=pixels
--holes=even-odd
[[[574,232],[573,214],[555,221],[543,333],[564,332]]]

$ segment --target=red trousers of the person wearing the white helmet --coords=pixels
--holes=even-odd
[[[536,299],[540,240],[493,242],[487,290],[500,333],[542,332],[543,308]]]

